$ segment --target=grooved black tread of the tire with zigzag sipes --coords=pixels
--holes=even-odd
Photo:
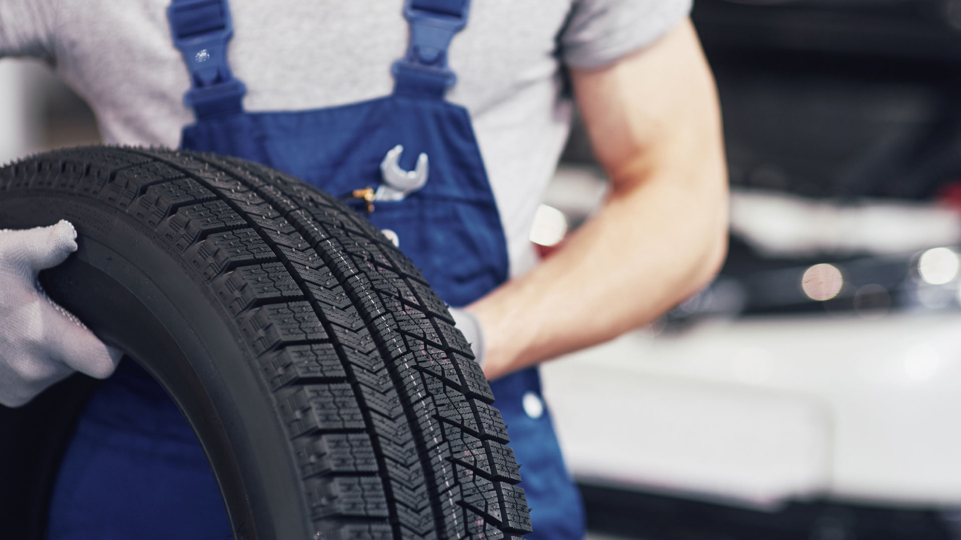
[[[530,532],[469,345],[355,211],[249,161],[161,149],[78,148],[0,169],[0,194],[25,189],[126,212],[208,283],[259,362],[324,538]]]

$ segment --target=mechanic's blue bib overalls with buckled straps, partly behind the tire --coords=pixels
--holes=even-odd
[[[448,304],[470,304],[505,282],[507,253],[467,110],[444,99],[455,81],[447,48],[466,24],[469,3],[407,0],[410,42],[393,64],[389,96],[320,110],[246,112],[245,87],[226,61],[233,33],[226,0],[174,0],[168,17],[190,73],[185,102],[197,118],[185,127],[182,147],[258,161],[335,196],[381,184],[381,160],[398,144],[405,169],[427,154],[427,184],[403,200],[377,201],[369,217],[397,233],[404,253]],[[534,530],[528,538],[582,538],[579,494],[550,414],[535,418],[522,405],[526,394],[540,396],[537,370],[491,387],[523,465]],[[230,530],[185,419],[142,370],[121,366],[86,405],[68,447],[49,537],[222,539]]]

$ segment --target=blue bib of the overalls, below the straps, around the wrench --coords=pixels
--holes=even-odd
[[[428,155],[427,184],[401,201],[375,201],[368,218],[397,233],[445,302],[467,305],[507,278],[504,232],[467,110],[394,94],[330,109],[248,112],[184,131],[186,148],[258,161],[334,197],[377,188],[381,161],[398,144],[405,169]]]

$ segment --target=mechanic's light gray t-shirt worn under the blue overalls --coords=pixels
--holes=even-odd
[[[511,275],[533,265],[534,210],[567,137],[562,66],[593,67],[672,29],[691,0],[475,0],[451,45],[507,237]],[[108,143],[176,147],[193,121],[170,0],[0,0],[0,56],[35,56],[96,113]],[[246,110],[308,110],[389,94],[407,47],[403,0],[231,0],[229,61]],[[652,77],[657,74],[653,73]]]

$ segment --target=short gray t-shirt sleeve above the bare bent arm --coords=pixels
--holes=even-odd
[[[598,67],[642,49],[691,12],[692,0],[575,0],[560,35],[561,59]]]

